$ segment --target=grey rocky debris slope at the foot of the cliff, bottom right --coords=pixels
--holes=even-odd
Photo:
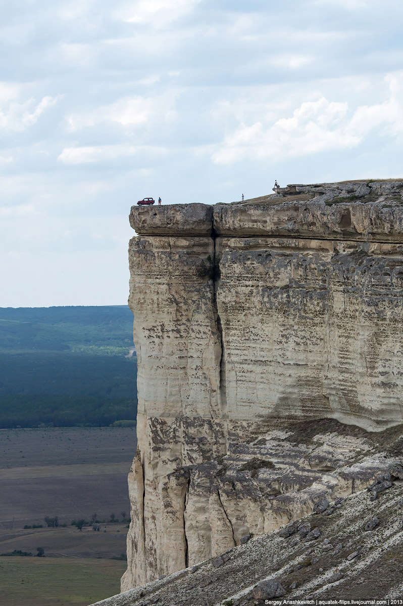
[[[362,458],[367,467],[367,459]],[[392,465],[392,466],[391,466]],[[393,464],[389,465],[392,469]],[[319,499],[317,513],[272,530],[97,606],[261,606],[266,599],[400,598],[403,587],[403,483]]]

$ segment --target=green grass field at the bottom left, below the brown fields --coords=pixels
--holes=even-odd
[[[119,593],[125,567],[116,560],[0,558],[0,601],[4,606],[87,606]]]

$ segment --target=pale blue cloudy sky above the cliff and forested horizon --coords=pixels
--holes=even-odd
[[[0,306],[119,305],[137,200],[402,178],[399,0],[14,0]]]

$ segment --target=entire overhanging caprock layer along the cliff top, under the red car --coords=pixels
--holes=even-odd
[[[141,236],[286,236],[403,242],[403,179],[291,184],[231,204],[133,206]]]

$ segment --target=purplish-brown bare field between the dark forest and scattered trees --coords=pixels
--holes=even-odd
[[[134,428],[0,430],[0,528],[129,516]],[[14,518],[14,522],[13,522]]]

